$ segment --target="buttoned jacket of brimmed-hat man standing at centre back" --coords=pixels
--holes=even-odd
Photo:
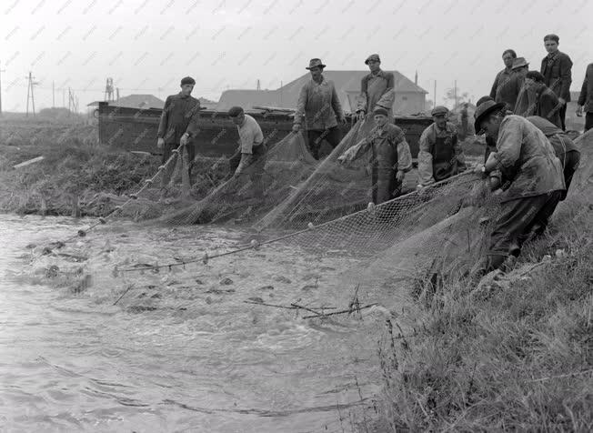
[[[337,118],[344,118],[333,81],[321,76],[321,82],[310,79],[301,88],[295,123],[300,124],[303,117],[307,130],[325,130],[337,126]]]

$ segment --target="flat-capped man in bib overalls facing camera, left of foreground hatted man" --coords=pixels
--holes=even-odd
[[[466,170],[466,159],[459,145],[457,127],[447,121],[449,110],[436,106],[419,140],[418,188],[445,180]]]

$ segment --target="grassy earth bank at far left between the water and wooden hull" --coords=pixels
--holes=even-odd
[[[14,168],[32,158],[43,159]],[[126,201],[154,176],[160,156],[138,155],[98,143],[96,126],[68,125],[39,120],[0,123],[0,212],[56,216],[102,217]],[[207,164],[207,162],[204,162]],[[199,198],[221,173],[202,178],[194,173],[192,196]],[[158,184],[158,182],[156,182]],[[159,217],[176,205],[171,188],[159,202],[158,185],[148,188],[121,217]]]

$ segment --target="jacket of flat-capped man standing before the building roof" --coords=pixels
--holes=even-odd
[[[387,108],[389,115],[393,111],[395,100],[395,77],[391,72],[378,70],[377,74],[363,76],[360,82],[360,95],[357,97],[357,111],[372,113],[375,106]]]

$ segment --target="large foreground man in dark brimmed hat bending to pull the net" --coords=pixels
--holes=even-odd
[[[496,152],[476,172],[487,176],[500,170],[505,180],[487,256],[474,276],[481,277],[543,233],[566,187],[554,148],[526,118],[507,115],[504,104],[486,101],[477,106],[475,126],[478,134],[486,132],[497,141]]]

